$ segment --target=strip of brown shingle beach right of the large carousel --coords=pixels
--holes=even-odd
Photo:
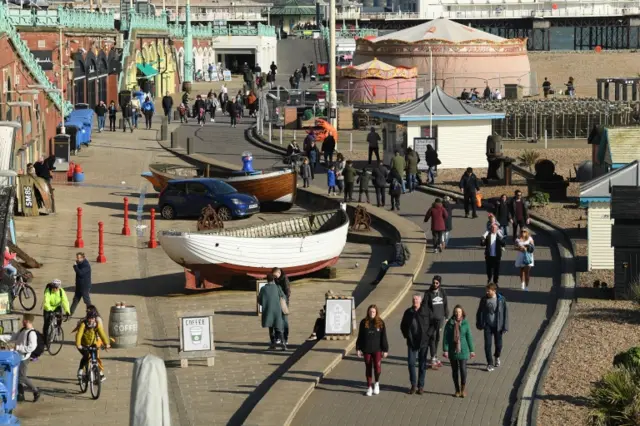
[[[539,86],[548,77],[552,87],[560,91],[569,77],[573,77],[579,97],[596,96],[596,78],[637,78],[640,74],[640,61],[635,51],[529,52],[529,63]]]

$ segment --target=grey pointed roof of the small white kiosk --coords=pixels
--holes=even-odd
[[[431,99],[433,97],[433,100]],[[433,110],[431,109],[433,107]],[[504,118],[504,113],[487,111],[447,95],[440,86],[426,95],[406,104],[371,111],[372,117],[393,121],[427,121],[432,116],[437,120],[492,120]]]

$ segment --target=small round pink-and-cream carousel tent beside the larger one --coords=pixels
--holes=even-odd
[[[394,67],[377,58],[338,71],[338,90],[350,104],[397,104],[416,98],[416,67]]]

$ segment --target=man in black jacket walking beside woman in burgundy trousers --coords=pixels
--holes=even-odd
[[[404,312],[400,322],[400,331],[407,339],[409,366],[409,380],[411,389],[409,395],[416,393],[416,358],[418,360],[418,395],[424,392],[424,379],[427,374],[427,350],[429,345],[431,311],[427,303],[422,302],[422,296],[413,296],[412,306]]]

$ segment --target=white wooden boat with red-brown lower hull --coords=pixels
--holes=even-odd
[[[244,227],[163,231],[158,240],[185,268],[189,289],[220,287],[234,276],[264,278],[276,266],[295,277],[338,261],[349,230],[345,209]]]

